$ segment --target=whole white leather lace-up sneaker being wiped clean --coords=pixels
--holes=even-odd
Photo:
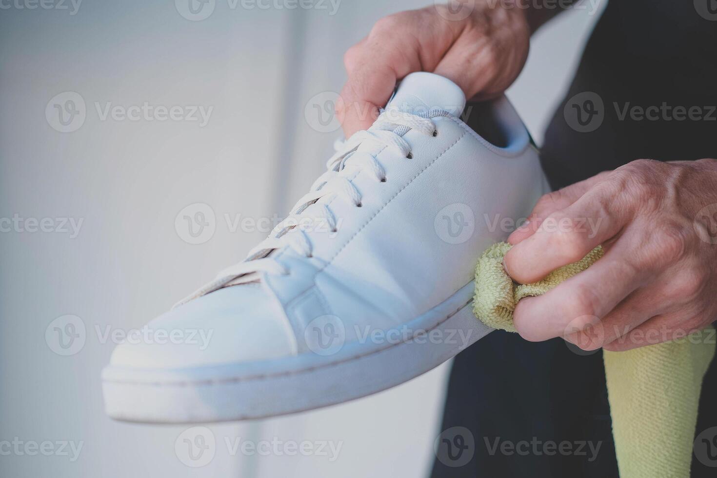
[[[490,332],[472,313],[475,262],[547,185],[508,100],[465,111],[493,143],[457,118],[464,107],[444,77],[406,77],[244,262],[149,322],[166,340],[115,349],[107,413],[193,422],[309,410],[396,386]]]

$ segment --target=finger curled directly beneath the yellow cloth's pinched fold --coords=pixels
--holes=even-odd
[[[518,302],[513,312],[516,330],[534,342],[595,326],[636,290],[647,274],[632,267],[623,254],[613,249],[546,294]]]

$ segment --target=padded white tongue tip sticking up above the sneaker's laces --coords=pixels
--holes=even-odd
[[[416,72],[405,77],[386,106],[397,107],[407,113],[446,110],[460,116],[465,107],[465,95],[458,85],[435,73]]]

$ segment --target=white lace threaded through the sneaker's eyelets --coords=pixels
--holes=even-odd
[[[252,249],[244,261],[222,270],[214,281],[177,305],[224,287],[244,274],[288,274],[288,270],[270,256],[272,251],[290,247],[297,254],[311,257],[312,244],[306,233],[307,229],[315,224],[326,224],[329,231],[337,230],[336,217],[328,207],[328,201],[320,199],[338,197],[354,206],[361,206],[361,193],[353,186],[351,178],[357,173],[366,172],[376,181],[386,181],[384,168],[376,161],[376,154],[384,148],[393,148],[402,156],[411,158],[411,146],[402,136],[408,130],[434,135],[436,128],[429,118],[439,115],[446,113],[430,111],[428,118],[424,118],[389,107],[379,115],[371,128],[355,133],[346,141],[338,142],[335,145],[336,153],[326,162],[328,171],[319,176],[310,191],[299,199],[291,214],[272,229],[267,239]],[[351,161],[348,161],[349,158]]]

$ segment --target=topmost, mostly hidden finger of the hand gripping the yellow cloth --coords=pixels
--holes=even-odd
[[[580,199],[584,193],[589,191],[592,186],[604,181],[610,172],[611,171],[603,171],[579,183],[574,183],[557,191],[544,194],[541,199],[538,199],[538,203],[533,208],[533,211],[531,211],[530,216],[528,216],[528,222],[513,231],[513,234],[508,236],[508,242],[515,245],[524,239],[528,239],[528,237],[532,236],[535,231],[538,230],[538,227],[546,217],[573,204]]]

